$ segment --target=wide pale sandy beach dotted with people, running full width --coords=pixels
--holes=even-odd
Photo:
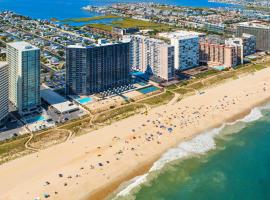
[[[0,166],[0,199],[103,199],[183,140],[270,99],[270,69],[121,120]]]

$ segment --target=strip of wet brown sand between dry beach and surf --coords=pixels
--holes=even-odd
[[[253,109],[258,108],[260,106],[263,106],[263,105],[265,105],[265,104],[267,104],[269,102],[270,102],[270,97],[268,99],[262,100],[258,104],[255,104],[254,106],[252,106],[249,109],[243,111],[242,113],[239,113],[238,115],[232,116],[230,119],[228,119],[227,121],[224,121],[224,123],[222,123],[222,124],[217,124],[215,126],[207,128],[206,130],[204,130],[202,132],[195,133],[190,138],[186,138],[186,139],[180,141],[179,144],[177,144],[175,146],[172,146],[170,149],[177,148],[177,146],[180,145],[181,143],[186,142],[186,141],[190,141],[193,138],[195,138],[196,136],[202,135],[205,132],[211,131],[211,130],[213,130],[215,128],[219,128],[222,125],[226,125],[227,123],[237,122],[237,121],[243,119],[244,117],[248,116]],[[168,149],[167,151],[169,151],[170,149]],[[110,183],[109,185],[104,186],[103,188],[100,188],[98,191],[93,191],[92,192],[93,194],[89,195],[87,198],[82,199],[82,200],[112,199],[111,198],[112,196],[115,197],[115,195],[113,195],[113,194],[117,194],[117,193],[121,192],[123,189],[125,189],[130,184],[129,181],[131,181],[133,178],[142,176],[142,175],[150,172],[150,169],[153,167],[155,162],[157,162],[165,153],[166,152],[163,152],[161,155],[157,156],[156,159],[153,159],[152,161],[149,161],[147,163],[143,163],[142,166],[139,167],[139,169],[136,169],[134,172],[126,174],[124,177],[119,178],[114,183]],[[183,158],[179,158],[179,159],[175,159],[175,160],[181,160],[181,159],[183,159]],[[170,162],[173,162],[175,160],[172,160]],[[157,171],[162,170],[162,168],[164,166],[165,165],[163,165],[161,167],[161,169],[158,169]],[[154,170],[154,171],[156,171],[156,170]]]

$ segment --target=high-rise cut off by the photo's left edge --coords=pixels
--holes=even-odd
[[[0,126],[8,116],[8,64],[0,62]]]

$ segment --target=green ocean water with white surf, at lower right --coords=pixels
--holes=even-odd
[[[270,104],[179,144],[114,200],[269,200]]]

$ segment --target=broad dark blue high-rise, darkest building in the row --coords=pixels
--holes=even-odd
[[[66,93],[87,95],[130,82],[129,43],[66,50]]]

